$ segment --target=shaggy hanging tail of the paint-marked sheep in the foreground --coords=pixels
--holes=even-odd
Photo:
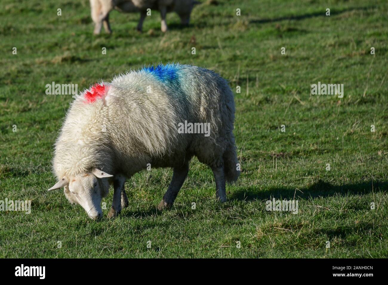
[[[236,143],[234,142],[234,135],[231,134],[229,144],[223,153],[223,164],[225,179],[228,183],[234,183],[240,175],[240,165],[236,154]]]

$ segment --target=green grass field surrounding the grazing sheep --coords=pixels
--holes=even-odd
[[[32,202],[31,214],[0,211],[0,257],[388,256],[386,0],[219,0],[196,6],[187,28],[168,14],[166,34],[157,11],[141,34],[138,14],[113,11],[110,36],[92,35],[87,0],[1,7],[0,200]],[[219,204],[211,170],[193,159],[174,207],[160,212],[172,171],[144,171],[126,183],[130,206],[118,218],[106,218],[111,191],[105,218],[92,221],[62,190],[47,191],[72,98],[45,85],[83,90],[158,62],[230,81],[241,176]],[[318,81],[344,84],[343,98],[311,95]],[[266,211],[272,198],[298,200],[298,214]]]

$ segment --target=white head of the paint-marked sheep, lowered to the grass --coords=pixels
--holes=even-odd
[[[113,175],[107,174],[99,169],[90,173],[83,173],[76,176],[65,176],[49,190],[64,187],[66,198],[71,204],[80,204],[92,219],[102,218],[101,199],[109,192],[109,181],[107,178]]]

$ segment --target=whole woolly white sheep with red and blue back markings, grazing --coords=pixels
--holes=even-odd
[[[55,143],[53,168],[69,202],[91,218],[113,183],[108,216],[128,206],[125,180],[149,164],[171,167],[173,177],[158,208],[170,207],[196,156],[213,170],[217,199],[237,170],[234,98],[227,81],[196,66],[159,64],[100,83],[71,103]],[[206,126],[206,127],[205,127]]]

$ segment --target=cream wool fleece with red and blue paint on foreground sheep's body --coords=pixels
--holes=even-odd
[[[178,123],[210,123],[210,136]],[[71,103],[55,143],[58,179],[99,167],[131,176],[196,155],[210,166],[234,149],[234,98],[218,74],[196,66],[143,67],[100,82]]]

